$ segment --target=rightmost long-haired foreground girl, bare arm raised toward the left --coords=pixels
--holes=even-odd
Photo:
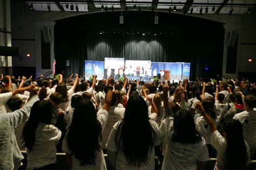
[[[223,137],[212,118],[200,104],[199,106],[201,114],[212,131],[211,145],[217,150],[217,162],[214,169],[246,169],[250,163],[250,148],[242,136],[242,124],[234,119],[224,121]]]

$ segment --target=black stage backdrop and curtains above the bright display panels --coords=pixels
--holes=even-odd
[[[66,74],[65,60],[70,60],[71,73],[84,75],[84,60],[104,61],[105,57],[120,57],[153,62],[191,62],[191,80],[221,75],[222,23],[191,15],[158,12],[159,24],[154,24],[155,13],[129,11],[127,14],[123,12],[124,24],[119,24],[120,15],[120,12],[102,12],[57,20],[57,73],[64,70]],[[207,71],[205,67],[208,67]]]

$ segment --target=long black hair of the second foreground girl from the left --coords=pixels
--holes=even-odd
[[[101,148],[99,142],[102,140],[102,125],[89,99],[77,103],[67,140],[71,154],[79,160],[80,166],[95,165],[95,151]]]

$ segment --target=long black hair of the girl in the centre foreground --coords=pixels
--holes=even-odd
[[[118,150],[122,150],[129,165],[148,164],[147,154],[154,146],[156,132],[149,122],[147,104],[139,95],[132,95],[126,105],[123,121],[115,134]]]

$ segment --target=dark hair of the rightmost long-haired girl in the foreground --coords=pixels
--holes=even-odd
[[[243,137],[242,124],[234,119],[224,121],[226,132],[225,169],[246,169],[247,150]]]

